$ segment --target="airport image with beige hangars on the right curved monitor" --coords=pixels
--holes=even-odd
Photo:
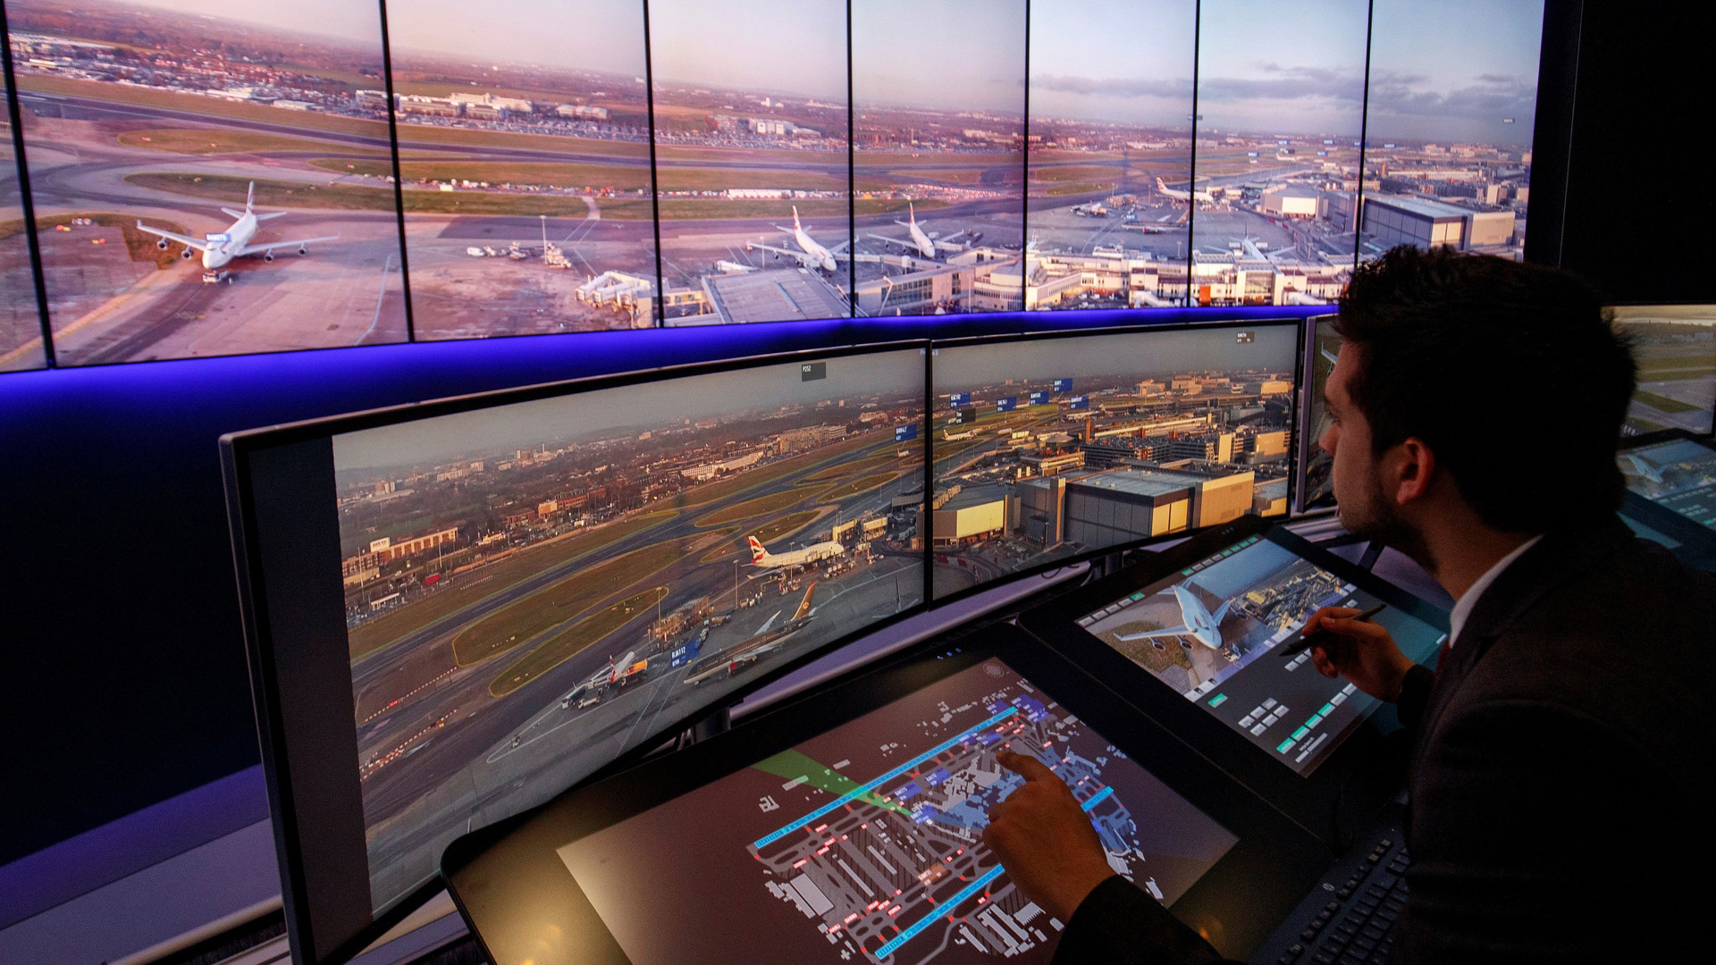
[[[1296,352],[1292,325],[939,349],[937,592],[1285,513]]]

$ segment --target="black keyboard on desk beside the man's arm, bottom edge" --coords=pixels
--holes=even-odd
[[[1409,864],[1399,816],[1390,816],[1333,864],[1251,956],[1253,965],[1392,962],[1393,924],[1405,910]]]

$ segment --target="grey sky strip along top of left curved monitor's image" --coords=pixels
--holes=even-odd
[[[534,448],[561,440],[599,440],[618,428],[678,428],[686,419],[824,398],[909,391],[923,398],[923,355],[916,349],[827,359],[827,378],[803,381],[798,364],[762,366],[578,395],[475,409],[333,438],[336,472],[383,465],[450,462],[460,457]],[[856,417],[856,410],[853,416]]]

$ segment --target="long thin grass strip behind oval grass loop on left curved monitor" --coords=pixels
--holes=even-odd
[[[355,661],[371,651],[381,649],[407,634],[415,634],[429,623],[434,623],[451,613],[458,613],[472,603],[499,592],[525,577],[532,577],[542,570],[551,570],[568,560],[583,556],[592,549],[601,549],[616,539],[625,539],[633,532],[645,531],[676,515],[678,512],[669,510],[616,520],[589,532],[532,546],[522,553],[508,556],[506,560],[453,577],[453,586],[439,589],[417,603],[402,606],[353,630],[348,630],[347,642],[352,649],[352,659]]]

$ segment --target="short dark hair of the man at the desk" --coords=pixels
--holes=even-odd
[[[1335,331],[1359,350],[1349,393],[1376,455],[1423,440],[1486,525],[1543,532],[1618,508],[1637,367],[1584,282],[1400,246],[1352,273]]]

